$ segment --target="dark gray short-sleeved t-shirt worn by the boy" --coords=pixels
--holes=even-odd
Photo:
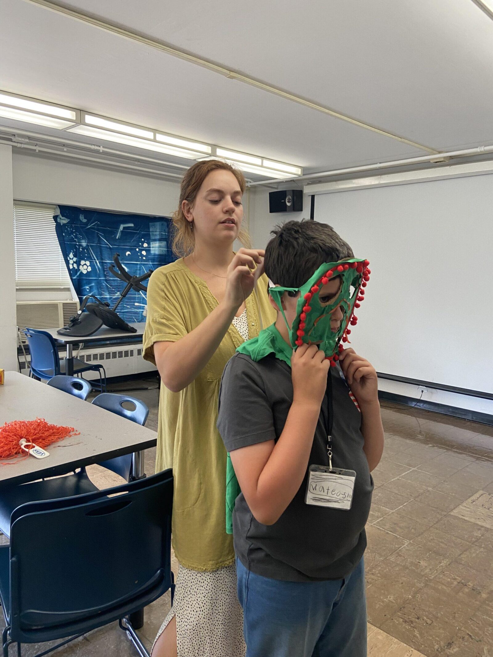
[[[233,512],[235,552],[252,572],[287,581],[341,579],[360,561],[366,547],[365,524],[373,479],[363,451],[361,414],[349,396],[339,365],[331,368],[333,427],[332,464],[356,471],[350,510],[327,509],[305,503],[308,470],[293,501],[273,525],[258,522],[243,493]],[[273,353],[253,361],[235,353],[221,382],[218,429],[227,451],[277,440],[291,403],[291,368]],[[328,465],[327,392],[308,465]]]

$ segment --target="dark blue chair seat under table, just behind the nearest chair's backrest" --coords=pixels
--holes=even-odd
[[[85,470],[55,479],[20,484],[0,490],[0,530],[11,535],[11,514],[14,509],[28,502],[73,497],[99,490],[87,476]]]

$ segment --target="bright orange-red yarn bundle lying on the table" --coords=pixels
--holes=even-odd
[[[68,436],[78,436],[73,426],[57,426],[49,424],[46,420],[37,417],[35,420],[14,420],[5,422],[0,427],[0,459],[10,459],[20,454],[27,455],[26,451],[21,449],[19,441],[22,438],[30,443],[35,443],[38,447],[48,447],[51,443],[68,438]]]

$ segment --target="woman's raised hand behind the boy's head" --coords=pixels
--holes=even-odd
[[[259,276],[264,273],[262,249],[241,248],[227,268],[224,302],[235,312],[250,294]]]

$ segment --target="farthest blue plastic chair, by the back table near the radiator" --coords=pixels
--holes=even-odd
[[[28,339],[29,352],[31,354],[31,373],[37,378],[46,380],[58,374],[65,374],[65,361],[60,361],[57,345],[53,337],[45,330],[35,328],[24,328]],[[101,392],[106,390],[106,372],[103,365],[87,365],[84,361],[74,358],[74,374],[82,372],[97,372],[99,374],[99,388]],[[105,376],[103,377],[103,373]],[[93,385],[97,385],[94,384]]]

